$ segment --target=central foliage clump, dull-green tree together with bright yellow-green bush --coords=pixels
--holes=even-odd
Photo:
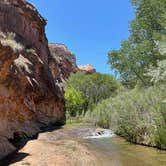
[[[75,116],[77,113],[71,112],[86,112],[87,109],[92,109],[99,101],[114,96],[118,86],[115,78],[108,74],[95,73],[86,75],[84,72],[71,74],[65,83],[68,112],[70,112],[71,116]],[[70,103],[74,103],[75,107],[69,106]],[[76,105],[79,107],[78,110]]]

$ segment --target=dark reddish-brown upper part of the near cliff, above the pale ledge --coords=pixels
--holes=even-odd
[[[0,31],[15,32],[17,41],[26,48],[35,47],[40,58],[48,63],[46,21],[34,6],[25,0],[1,0],[0,23]]]

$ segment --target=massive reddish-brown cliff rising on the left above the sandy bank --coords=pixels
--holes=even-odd
[[[51,61],[45,25],[26,1],[0,1],[0,159],[16,149],[9,140],[64,123],[63,91],[56,82],[59,70],[65,76],[70,66],[59,69],[63,61]]]

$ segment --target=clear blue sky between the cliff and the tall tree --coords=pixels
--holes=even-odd
[[[77,64],[92,64],[98,72],[111,73],[107,53],[118,49],[129,35],[133,8],[129,0],[29,0],[48,20],[50,43],[64,43]]]

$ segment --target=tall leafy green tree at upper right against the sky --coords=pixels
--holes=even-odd
[[[166,37],[166,1],[131,2],[135,7],[135,19],[130,23],[130,37],[122,42],[119,50],[109,52],[108,63],[119,72],[123,81],[140,80],[146,85],[149,79],[144,73],[166,58],[159,51],[159,45]]]

